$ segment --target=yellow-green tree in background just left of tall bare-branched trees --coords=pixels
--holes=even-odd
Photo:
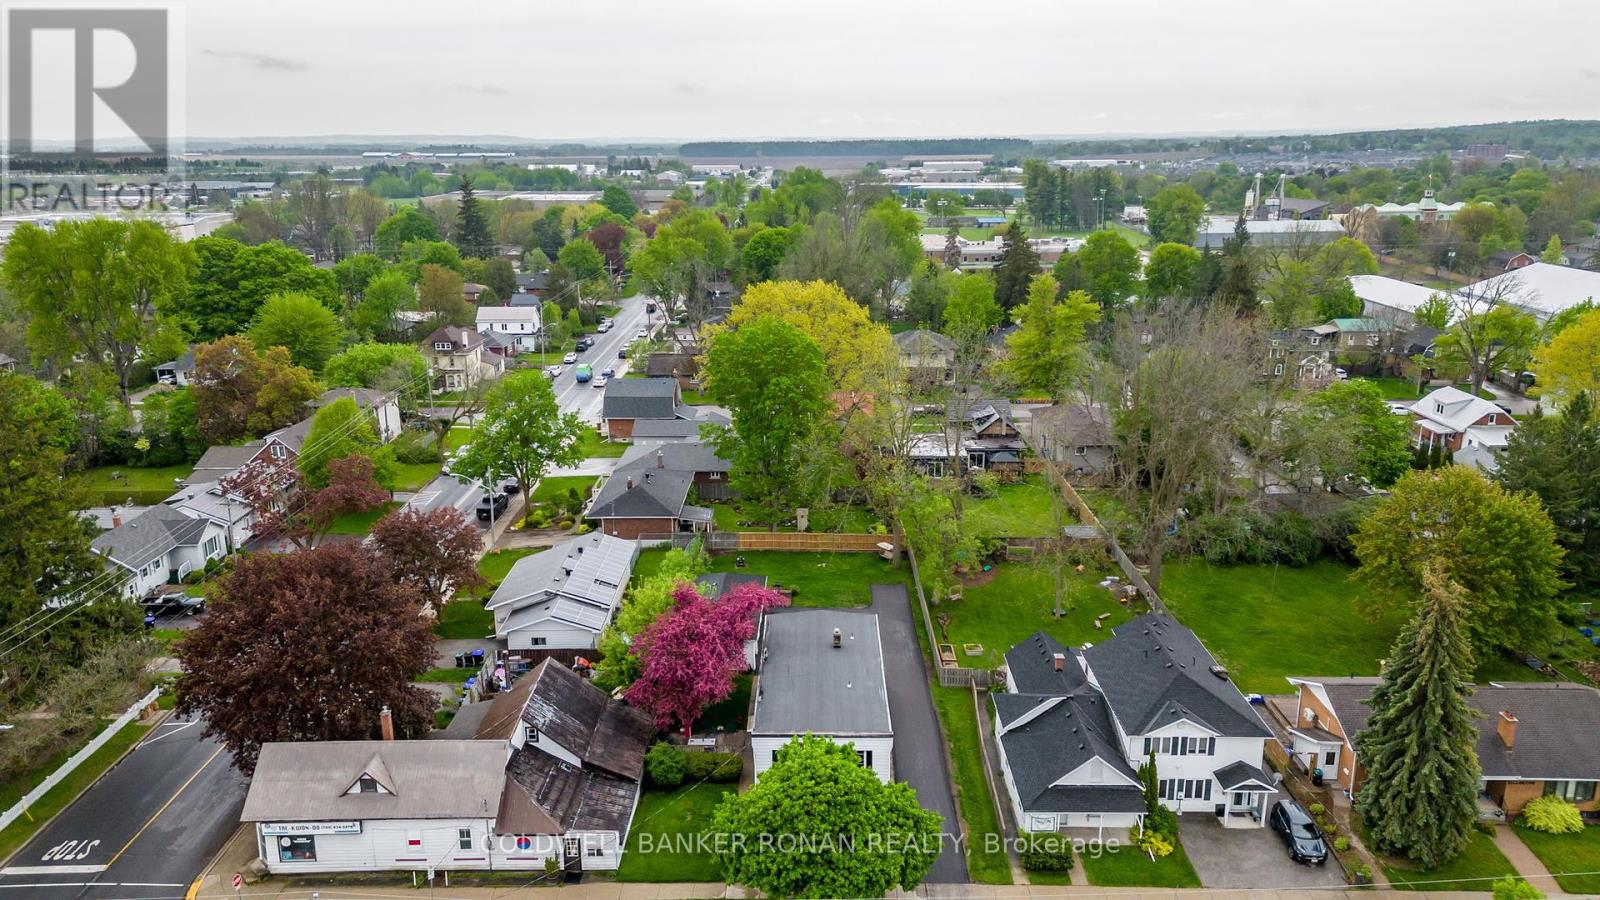
[[[1099,317],[1090,295],[1072,291],[1056,301],[1056,279],[1035,275],[1016,311],[1018,330],[1006,338],[1005,372],[1022,388],[1064,397],[1083,370],[1083,333]]]

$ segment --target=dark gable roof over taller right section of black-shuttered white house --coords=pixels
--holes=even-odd
[[[1083,658],[1130,737],[1181,719],[1222,737],[1272,737],[1234,682],[1213,674],[1205,644],[1171,617],[1125,621]]]

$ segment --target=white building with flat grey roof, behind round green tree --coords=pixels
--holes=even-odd
[[[750,716],[755,777],[773,753],[813,733],[856,748],[883,781],[894,777],[894,727],[877,613],[774,609],[762,617]]]

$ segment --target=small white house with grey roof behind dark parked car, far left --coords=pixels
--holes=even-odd
[[[194,519],[166,504],[117,524],[90,543],[94,552],[128,573],[125,593],[139,599],[166,583],[205,569],[227,554],[227,532],[210,519]]]

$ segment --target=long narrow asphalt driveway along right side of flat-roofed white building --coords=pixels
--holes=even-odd
[[[946,834],[960,834],[950,770],[944,764],[939,714],[933,709],[933,693],[928,692],[928,669],[917,644],[917,625],[906,586],[874,585],[872,612],[878,613],[883,639],[883,676],[888,679],[890,722],[894,725],[894,778],[917,791],[923,809],[944,817]],[[944,852],[923,881],[966,884],[966,860],[954,841],[946,841]]]

